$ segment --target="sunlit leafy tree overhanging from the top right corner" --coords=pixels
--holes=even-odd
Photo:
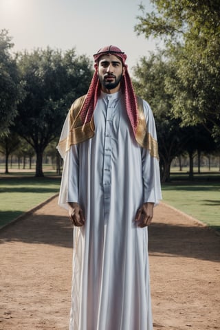
[[[220,1],[152,0],[155,11],[142,16],[137,34],[164,40],[176,67],[167,82],[172,111],[183,125],[203,124],[220,140]]]

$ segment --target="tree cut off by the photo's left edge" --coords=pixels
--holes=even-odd
[[[16,58],[10,50],[12,38],[6,30],[0,31],[0,136],[8,133],[17,113],[17,104],[21,100],[23,84],[19,77]]]

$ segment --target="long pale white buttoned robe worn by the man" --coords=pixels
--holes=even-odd
[[[144,114],[156,139],[145,101]],[[133,138],[120,92],[102,93],[94,123],[94,137],[65,154],[59,197],[80,203],[86,219],[74,228],[69,330],[152,330],[148,234],[135,214],[162,198],[158,159]]]

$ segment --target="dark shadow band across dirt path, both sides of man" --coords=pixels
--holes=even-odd
[[[220,261],[220,236],[208,228],[155,222],[148,233],[150,254]],[[67,216],[27,214],[0,231],[0,243],[6,241],[72,248],[72,225]]]

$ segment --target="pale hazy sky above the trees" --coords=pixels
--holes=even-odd
[[[140,2],[153,10],[150,0],[0,0],[0,30],[8,30],[14,51],[75,47],[92,59],[101,47],[116,45],[132,69],[156,47],[134,32]]]

